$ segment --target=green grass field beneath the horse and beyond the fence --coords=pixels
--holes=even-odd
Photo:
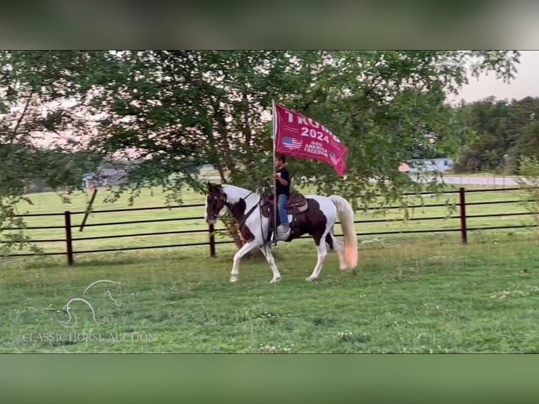
[[[505,199],[512,193],[469,194],[469,201]],[[65,208],[51,195],[36,195],[32,213]],[[136,206],[161,204],[144,195]],[[455,198],[455,196],[450,196]],[[186,203],[200,197],[189,196]],[[98,198],[99,202],[99,198]],[[439,201],[429,201],[429,203]],[[95,209],[125,207],[100,206]],[[22,209],[23,207],[21,207]],[[518,206],[470,206],[468,214],[510,213]],[[70,210],[84,210],[84,196]],[[148,217],[201,216],[201,208],[172,211],[94,214],[88,223]],[[429,208],[419,215],[443,215]],[[395,217],[398,214],[395,214]],[[357,213],[357,220],[372,214]],[[80,216],[82,218],[82,216]],[[61,225],[62,218],[32,218],[29,224]],[[527,216],[481,218],[469,225],[530,223]],[[77,224],[78,222],[75,222]],[[203,220],[124,227],[87,227],[75,236],[114,232],[165,231],[179,226],[204,229]],[[431,227],[429,227],[431,226]],[[357,231],[458,227],[458,220],[357,225]],[[35,231],[39,237],[63,231]],[[36,235],[37,237],[37,235]],[[205,241],[207,235],[151,239],[77,241],[75,250]],[[240,282],[229,284],[234,247],[220,245],[217,258],[208,248],[80,254],[75,266],[65,258],[4,259],[0,263],[0,351],[2,352],[174,352],[174,353],[453,353],[539,352],[539,254],[534,229],[473,232],[469,244],[458,233],[378,236],[360,244],[357,275],[338,270],[326,259],[321,278],[305,282],[316,262],[310,240],[275,248],[280,284],[270,285],[265,260],[245,259]],[[360,241],[372,241],[360,236]],[[44,246],[50,251],[62,244]],[[99,279],[121,282],[121,295],[106,284],[93,286],[87,301],[71,303],[77,324],[70,329],[65,305],[82,298]],[[104,293],[121,302],[117,306]],[[73,324],[73,321],[70,323]]]

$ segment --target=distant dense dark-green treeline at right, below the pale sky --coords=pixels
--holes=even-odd
[[[515,175],[521,158],[539,156],[539,98],[489,97],[461,103],[455,113],[467,135],[455,171]]]

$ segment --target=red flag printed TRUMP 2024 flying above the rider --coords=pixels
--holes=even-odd
[[[276,153],[321,160],[341,177],[346,171],[348,149],[319,122],[274,104]]]

